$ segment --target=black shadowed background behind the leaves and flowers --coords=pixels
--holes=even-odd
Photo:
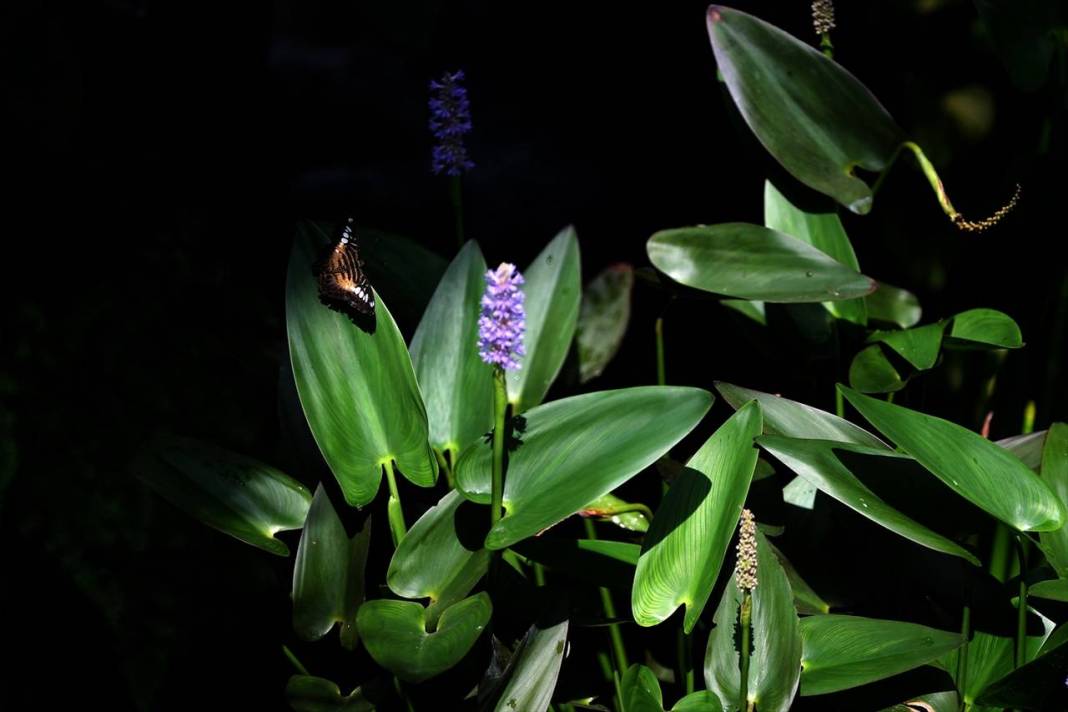
[[[738,6],[812,38],[805,2]],[[914,291],[925,321],[973,306],[1018,320],[1022,351],[947,358],[905,394],[970,427],[992,409],[994,437],[1019,431],[1027,399],[1039,427],[1068,418],[1064,43],[1050,59],[1027,34],[1049,29],[1054,3],[1012,6],[991,35],[971,2],[844,2],[833,33],[835,58],[925,146],[965,216],[1023,186],[1002,225],[962,234],[906,159],[870,216],[844,217],[864,271]],[[704,10],[7,0],[0,707],[283,709],[290,563],[157,499],[134,453],[169,430],[290,463],[278,395],[295,221],[354,215],[451,256],[426,128],[427,81],[444,70],[468,77],[467,228],[490,264],[524,265],[574,223],[590,279],[646,265],[660,228],[760,222],[775,167],[717,82]],[[640,283],[634,299],[623,352],[590,387],[654,381],[664,298]],[[408,335],[415,317],[402,315]],[[838,359],[789,329],[769,336],[712,301],[665,319],[671,382],[828,409],[855,351],[848,335]],[[850,612],[956,626],[931,589],[959,581],[924,583],[922,550],[834,517],[795,543],[817,589]],[[885,558],[866,558],[877,545]],[[361,679],[344,662],[330,671],[346,691]]]

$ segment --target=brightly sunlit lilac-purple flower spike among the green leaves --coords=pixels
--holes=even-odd
[[[515,265],[501,263],[486,272],[486,292],[478,317],[478,355],[504,370],[519,368],[523,355],[523,275]]]

